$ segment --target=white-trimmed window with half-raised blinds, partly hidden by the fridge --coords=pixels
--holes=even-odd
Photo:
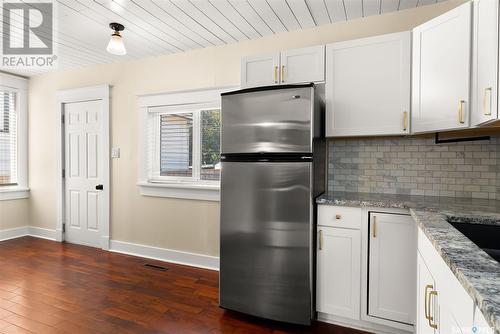
[[[143,195],[219,200],[221,92],[139,98]]]

